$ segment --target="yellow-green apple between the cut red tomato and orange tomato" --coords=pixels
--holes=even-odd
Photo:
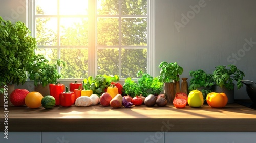
[[[193,90],[188,94],[187,103],[190,107],[201,107],[204,104],[203,94],[199,90]]]

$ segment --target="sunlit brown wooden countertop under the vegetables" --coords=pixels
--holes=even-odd
[[[3,107],[1,107],[2,113]],[[239,104],[225,108],[133,106],[132,108],[8,107],[8,131],[256,131],[256,110]],[[4,114],[4,113],[3,113]],[[4,129],[4,116],[0,117]]]

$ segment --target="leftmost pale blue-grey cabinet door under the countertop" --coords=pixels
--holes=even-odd
[[[0,142],[4,143],[41,143],[41,132],[8,132],[8,139],[4,138],[5,132],[0,133]]]

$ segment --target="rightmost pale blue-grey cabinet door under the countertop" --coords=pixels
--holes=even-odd
[[[165,132],[165,143],[251,143],[255,140],[255,132]]]

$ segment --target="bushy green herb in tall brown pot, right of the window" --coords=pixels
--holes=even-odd
[[[167,96],[167,102],[172,103],[175,96],[175,89],[180,90],[179,75],[183,73],[183,68],[179,66],[176,62],[161,62],[159,68],[161,69],[161,71],[158,79],[164,83],[164,93]]]

